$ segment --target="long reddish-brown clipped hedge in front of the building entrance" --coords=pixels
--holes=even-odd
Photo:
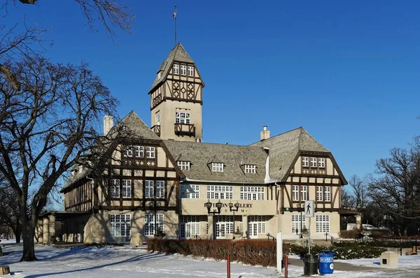
[[[183,256],[214,258],[225,260],[230,254],[231,261],[248,265],[276,266],[276,242],[263,240],[147,240],[149,251],[167,254],[179,253]],[[283,244],[283,256],[288,256],[290,244]]]

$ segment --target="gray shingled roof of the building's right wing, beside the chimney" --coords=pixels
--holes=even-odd
[[[251,146],[269,147],[269,176],[276,181],[285,178],[297,152],[330,152],[310,136],[303,127],[255,142]]]

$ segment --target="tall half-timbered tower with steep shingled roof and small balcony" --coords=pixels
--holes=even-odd
[[[197,66],[181,43],[169,52],[148,92],[151,129],[162,139],[202,140],[202,89]]]

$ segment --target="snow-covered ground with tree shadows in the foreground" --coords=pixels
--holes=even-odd
[[[22,244],[10,240],[0,244],[4,253],[0,265],[9,265],[12,277],[226,277],[225,261],[151,253],[132,247],[57,248],[36,244],[36,256],[40,261],[18,263]],[[379,258],[337,261],[370,268],[335,270],[325,277],[420,277],[420,255],[402,256],[398,268],[390,269],[381,268]],[[288,274],[288,277],[301,277],[303,268],[289,265]],[[231,277],[283,277],[283,274],[278,274],[276,268],[232,263]]]

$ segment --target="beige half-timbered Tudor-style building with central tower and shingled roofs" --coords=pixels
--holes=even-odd
[[[231,239],[238,230],[251,239],[279,231],[297,239],[309,227],[304,201],[314,200],[311,238],[338,237],[346,180],[331,152],[302,127],[270,137],[265,126],[248,146],[202,142],[203,87],[177,44],[148,92],[151,129],[134,112],[122,119],[116,127],[124,125],[130,136],[107,152],[102,179],[75,168],[62,189],[64,212],[45,214],[39,231],[48,232],[49,215],[64,223],[68,241],[120,242],[159,232]],[[104,117],[105,135],[116,127]],[[207,213],[208,200],[220,200],[221,214]],[[238,204],[235,217],[229,203]]]

